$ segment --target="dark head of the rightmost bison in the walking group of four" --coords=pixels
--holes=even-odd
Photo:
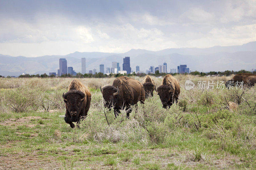
[[[169,103],[169,101],[172,101],[172,97],[173,97],[172,85],[171,87],[168,85],[161,85],[155,90],[160,97],[163,107],[166,108],[168,106],[167,104]]]

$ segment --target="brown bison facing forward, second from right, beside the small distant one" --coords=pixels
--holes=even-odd
[[[170,108],[174,102],[178,102],[180,83],[176,78],[172,77],[172,75],[167,74],[164,77],[162,84],[155,90],[160,97],[163,108]]]

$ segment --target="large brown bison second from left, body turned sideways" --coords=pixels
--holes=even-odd
[[[104,107],[114,108],[115,116],[118,116],[120,109],[126,107],[126,116],[129,118],[132,112],[131,106],[137,105],[138,101],[144,104],[145,91],[143,85],[132,78],[125,76],[114,80],[113,85],[105,86],[100,91],[104,99]]]

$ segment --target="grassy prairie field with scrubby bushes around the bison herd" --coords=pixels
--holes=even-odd
[[[100,86],[115,77],[80,78],[92,102],[74,129],[60,117],[73,78],[0,78],[0,169],[255,169],[256,87],[218,88],[232,76],[174,77],[177,104],[162,108],[154,92],[130,119],[103,107]],[[163,79],[152,78],[157,87]]]

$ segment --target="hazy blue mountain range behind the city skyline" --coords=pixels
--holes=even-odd
[[[94,68],[99,71],[100,64],[111,67],[112,62],[119,62],[122,70],[123,58],[130,56],[131,68],[136,65],[146,71],[150,66],[157,67],[167,63],[167,71],[177,69],[180,64],[187,64],[195,71],[225,71],[256,69],[256,41],[240,46],[214,46],[211,48],[168,48],[160,51],[131,49],[125,53],[74,52],[68,55],[44,55],[39,57],[9,56],[0,54],[0,75],[19,76],[25,74],[44,74],[57,72],[59,59],[66,58],[68,67],[81,72],[81,58],[86,58],[86,72]]]

